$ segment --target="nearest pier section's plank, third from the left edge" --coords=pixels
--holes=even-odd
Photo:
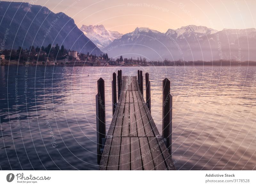
[[[121,138],[121,150],[118,170],[130,170],[130,138]]]

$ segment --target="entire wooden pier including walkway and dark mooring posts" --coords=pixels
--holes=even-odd
[[[159,134],[150,113],[151,101],[148,73],[145,74],[147,78],[147,103],[143,98],[142,71],[138,71],[139,81],[136,76],[122,77],[121,74],[122,71],[118,72],[117,96],[119,98],[116,103],[116,73],[113,73],[113,119],[107,135],[106,131],[104,131],[106,130],[104,125],[105,114],[102,114],[105,109],[105,94],[104,98],[102,98],[104,93],[104,80],[100,78],[98,81],[96,107],[99,169],[175,170],[170,155],[172,133],[172,118],[170,117],[170,104],[172,104],[170,100],[172,99],[169,99],[172,97],[170,94],[170,81],[168,79],[163,81],[163,88],[169,89],[168,94],[165,95],[167,97],[163,97],[163,110],[166,111],[166,109],[169,108],[168,113],[163,112],[163,117],[165,118],[165,120],[163,120],[164,138]],[[167,80],[169,81],[169,87],[167,86],[167,88],[165,88],[166,82],[168,84]],[[166,99],[168,100],[166,101]],[[166,105],[169,107],[167,108]],[[102,109],[103,107],[104,109]]]

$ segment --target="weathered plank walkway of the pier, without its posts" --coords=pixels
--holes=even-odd
[[[136,76],[123,76],[100,170],[175,169],[139,90]]]

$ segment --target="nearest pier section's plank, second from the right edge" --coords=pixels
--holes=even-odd
[[[156,170],[166,169],[161,149],[157,143],[156,137],[148,137],[149,147],[152,154],[154,166]]]

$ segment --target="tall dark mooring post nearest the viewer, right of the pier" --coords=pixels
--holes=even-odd
[[[166,147],[172,155],[172,95],[170,81],[163,80],[163,138],[166,138]]]

